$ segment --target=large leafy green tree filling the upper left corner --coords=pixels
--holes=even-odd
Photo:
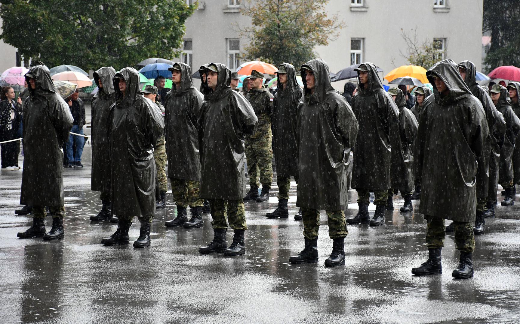
[[[176,57],[196,6],[183,0],[0,0],[0,37],[26,62],[117,69]]]

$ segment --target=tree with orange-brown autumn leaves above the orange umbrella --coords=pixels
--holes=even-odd
[[[344,23],[324,10],[329,0],[258,0],[242,5],[252,26],[241,29],[251,43],[244,58],[300,67],[316,57],[314,47],[328,45]]]

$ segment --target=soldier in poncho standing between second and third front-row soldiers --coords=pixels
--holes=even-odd
[[[177,217],[164,224],[167,227],[203,226],[200,198],[199,128],[197,118],[204,96],[191,80],[191,68],[175,63],[172,71],[172,90],[166,94],[165,133],[168,153],[168,176],[177,205]],[[187,208],[191,219],[188,221]]]

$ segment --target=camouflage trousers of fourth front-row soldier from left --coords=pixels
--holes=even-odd
[[[345,212],[338,210],[333,212],[327,210],[327,221],[329,223],[329,237],[342,238],[348,235],[347,223],[345,222]],[[303,236],[309,240],[314,240],[318,237],[318,230],[320,229],[320,211],[313,208],[302,207],[303,218]]]

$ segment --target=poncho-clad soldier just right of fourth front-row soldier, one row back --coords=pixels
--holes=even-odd
[[[357,190],[359,212],[347,223],[382,225],[390,189],[390,132],[397,122],[399,110],[383,89],[375,65],[363,63],[355,69],[359,91],[352,98],[352,110],[359,122],[359,136],[354,148],[352,188]],[[368,214],[370,191],[374,192],[375,214]]]

